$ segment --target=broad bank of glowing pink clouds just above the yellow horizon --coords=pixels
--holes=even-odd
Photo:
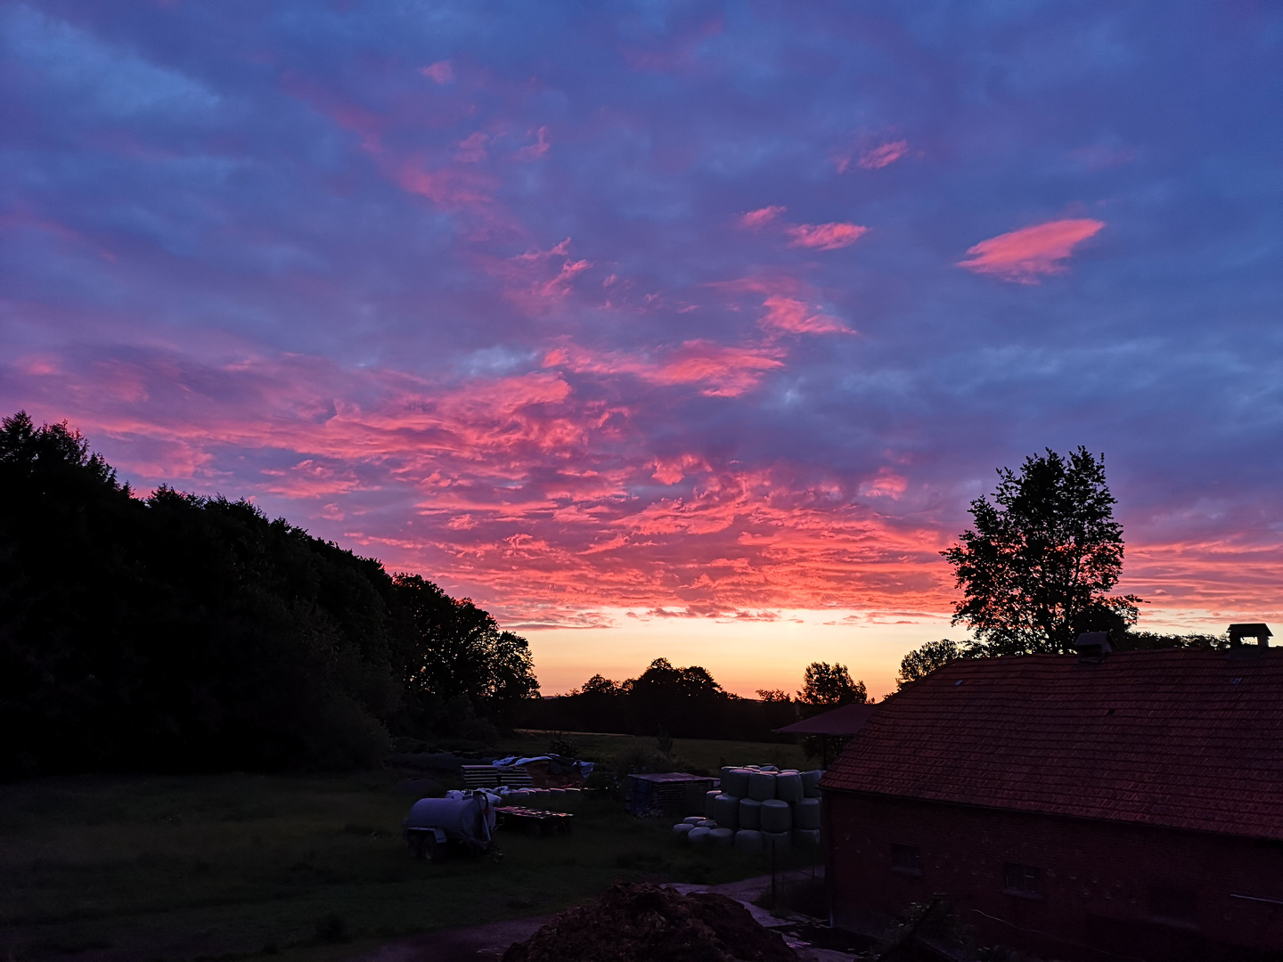
[[[956,594],[935,552],[957,523],[888,517],[916,490],[902,469],[851,477],[747,468],[716,445],[656,450],[633,403],[603,399],[636,377],[666,389],[638,403],[662,418],[667,389],[734,395],[736,378],[752,386],[780,357],[699,341],[654,357],[562,345],[548,360],[565,371],[432,381],[302,355],[131,351],[128,363],[42,359],[40,373],[0,358],[0,384],[37,421],[69,418],[123,478],[255,496],[506,623],[575,623],[603,607],[947,614]],[[575,372],[613,390],[580,387]],[[1183,525],[1129,535],[1128,590],[1265,617],[1283,577],[1277,532],[1253,527],[1248,543],[1218,527],[1200,541]]]

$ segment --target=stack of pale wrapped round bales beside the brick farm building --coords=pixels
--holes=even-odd
[[[770,764],[722,768],[721,789],[704,798],[704,816],[672,826],[692,845],[761,852],[772,845],[820,844],[820,776]]]

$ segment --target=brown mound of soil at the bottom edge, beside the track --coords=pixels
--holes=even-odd
[[[784,939],[725,895],[616,882],[597,906],[553,916],[503,962],[797,962]]]

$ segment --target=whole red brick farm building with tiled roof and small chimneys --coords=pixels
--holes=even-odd
[[[821,782],[835,921],[942,895],[981,940],[1052,958],[1283,950],[1268,635],[960,659],[906,686]]]

